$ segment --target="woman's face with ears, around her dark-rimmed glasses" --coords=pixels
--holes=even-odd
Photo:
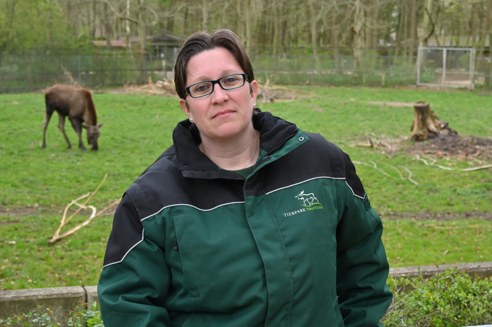
[[[244,73],[232,53],[224,48],[203,51],[191,57],[186,71],[187,87],[202,81]],[[253,92],[250,92],[250,83]],[[209,95],[199,98],[188,95],[188,107],[185,99],[179,100],[183,111],[198,127],[203,142],[220,142],[240,137],[249,128],[253,128],[251,116],[258,84],[255,80],[250,83],[245,81],[244,85],[232,90],[223,90],[216,83],[214,91]]]

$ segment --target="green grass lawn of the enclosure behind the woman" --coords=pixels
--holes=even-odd
[[[383,242],[391,266],[492,260],[492,240],[487,237],[492,229],[492,169],[464,172],[425,166],[405,151],[411,141],[400,142],[391,158],[380,148],[356,145],[368,138],[411,135],[413,108],[382,102],[423,100],[460,135],[490,137],[490,95],[321,86],[292,90],[298,99],[258,106],[322,134],[360,162],[356,164],[359,176],[384,220]],[[174,126],[186,118],[176,97],[96,93],[93,98],[98,121],[104,122],[99,151],[82,152],[67,148],[56,115],[48,126],[47,148],[41,148],[42,94],[0,95],[0,289],[95,285],[112,217],[96,217],[48,246],[65,206],[94,191],[106,173],[106,182],[89,204],[100,210],[118,200],[171,145]],[[69,122],[66,131],[77,144]],[[87,144],[85,131],[83,140]],[[361,164],[373,162],[384,173]],[[437,163],[455,168],[480,164],[456,158],[437,159]],[[406,169],[418,185],[401,179],[398,171],[406,177]],[[83,214],[67,227],[86,219],[88,212]]]

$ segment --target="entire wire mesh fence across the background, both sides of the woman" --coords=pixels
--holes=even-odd
[[[148,82],[149,77],[154,81],[172,79],[177,51],[177,48],[169,47],[143,55],[138,52],[84,52],[73,49],[0,54],[0,93],[33,92],[55,83],[77,83],[87,88],[106,88],[144,84]],[[302,51],[293,50],[281,54],[253,49],[250,57],[255,78],[260,83],[269,81],[276,84],[447,85],[448,82],[453,84],[453,78],[466,77],[469,84],[492,86],[490,57],[473,59],[474,69],[470,73],[463,70],[469,68],[469,55],[456,54],[453,51],[455,50],[447,51],[445,61],[442,59],[442,52],[428,51],[425,60],[422,61],[425,64],[420,66],[417,56],[381,55],[375,51],[361,51],[355,58],[347,51],[320,51],[315,56],[305,48]],[[446,63],[445,72],[442,68],[443,62]],[[471,79],[470,74],[473,75]],[[439,80],[440,84],[436,82]],[[456,85],[456,81],[454,83]]]

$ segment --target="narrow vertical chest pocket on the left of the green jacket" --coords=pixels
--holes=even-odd
[[[173,215],[173,220],[174,230],[176,232],[176,246],[181,259],[186,288],[192,297],[199,297],[198,271],[195,266],[195,254],[193,252],[186,213],[181,212]]]

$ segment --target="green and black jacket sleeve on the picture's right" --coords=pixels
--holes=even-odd
[[[346,185],[339,190],[337,225],[337,294],[345,327],[382,326],[392,301],[389,272],[381,241],[383,226],[344,154]]]

